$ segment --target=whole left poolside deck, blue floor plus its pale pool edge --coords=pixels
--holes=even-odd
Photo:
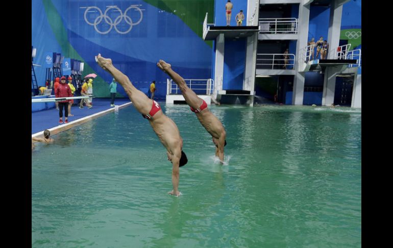
[[[115,99],[115,106],[117,105],[119,109],[127,107],[131,104],[132,102],[129,98]],[[94,98],[93,107],[90,109],[86,106],[84,106],[83,108],[79,108],[79,106],[72,106],[71,114],[73,116],[68,117],[69,122],[67,124],[59,123],[59,110],[57,110],[56,108],[32,112],[32,138],[42,137],[43,131],[45,129],[50,130],[51,135],[53,135],[61,131],[70,129],[72,127],[81,125],[87,121],[106,115],[113,111],[115,111],[115,107],[110,106],[110,98]]]

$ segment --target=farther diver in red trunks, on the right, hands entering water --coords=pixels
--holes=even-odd
[[[211,134],[213,143],[216,146],[215,155],[219,157],[221,163],[224,163],[224,146],[227,144],[225,141],[227,134],[223,124],[212,114],[212,112],[210,112],[207,108],[207,103],[187,86],[186,82],[179,74],[171,69],[170,64],[160,60],[157,66],[179,85],[183,97],[190,106],[191,111],[195,112],[202,126]]]

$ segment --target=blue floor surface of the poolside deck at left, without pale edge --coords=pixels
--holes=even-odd
[[[116,98],[114,104],[122,105],[125,103],[129,103],[129,98]],[[111,99],[110,98],[93,98],[93,107],[87,108],[84,106],[83,108],[79,108],[79,106],[71,107],[71,114],[73,116],[68,117],[68,121],[75,121],[78,119],[82,119],[84,117],[96,114],[98,112],[113,108],[110,106]],[[32,103],[33,104],[41,104],[41,103]],[[54,103],[53,103],[54,104]],[[45,129],[50,129],[53,127],[57,127],[59,125],[64,125],[59,123],[59,110],[55,107],[50,109],[44,109],[36,112],[32,112],[32,134],[43,131]],[[64,121],[64,110],[63,110],[63,121]]]

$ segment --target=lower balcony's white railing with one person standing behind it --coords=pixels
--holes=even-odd
[[[288,56],[287,59],[284,58],[285,55]],[[287,63],[285,63],[285,61]],[[280,69],[281,70],[286,65],[285,66],[286,70],[294,70],[294,63],[295,63],[295,55],[290,54],[290,53],[288,53],[288,54],[284,54],[284,53],[274,53],[274,54],[258,53],[257,54],[256,65],[268,65],[269,67],[272,66],[271,69]],[[276,68],[275,68],[275,66],[276,66]],[[287,66],[293,66],[293,67],[291,69],[289,69]]]

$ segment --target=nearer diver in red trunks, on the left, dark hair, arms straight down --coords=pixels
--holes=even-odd
[[[168,194],[179,196],[179,167],[187,164],[187,156],[182,151],[183,140],[175,122],[164,115],[156,101],[149,99],[143,92],[135,88],[130,79],[113,66],[111,59],[103,58],[99,54],[96,57],[96,61],[105,71],[113,76],[116,82],[120,83],[136,110],[149,120],[154,132],[167,150],[168,160],[173,164],[173,190],[168,192]]]

